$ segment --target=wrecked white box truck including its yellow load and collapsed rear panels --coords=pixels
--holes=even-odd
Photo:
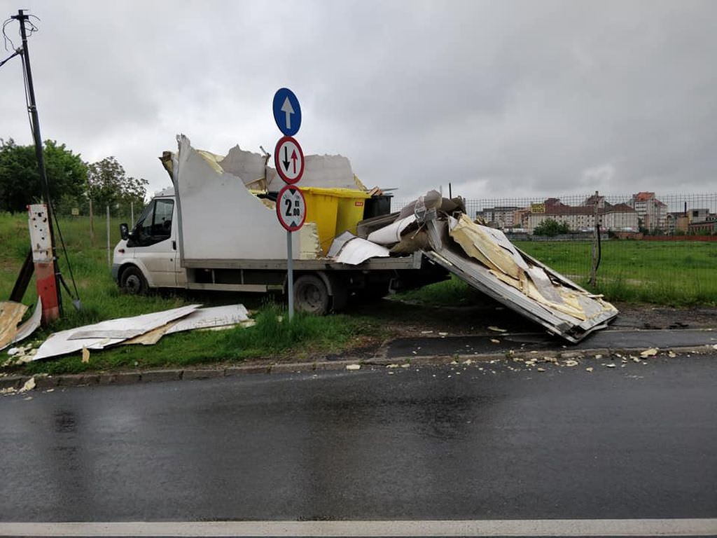
[[[133,230],[120,227],[112,268],[120,288],[286,291],[288,236],[271,199],[281,186],[275,170],[239,146],[218,156],[185,136],[177,141],[179,151],[162,158],[174,187],[151,200]],[[368,196],[341,156],[307,156],[300,183],[307,192],[356,193],[357,206]],[[341,224],[336,206],[320,206],[321,194],[307,202],[307,222],[290,236],[296,308],[340,311],[352,294],[381,297],[452,274],[571,342],[617,316],[602,296],[518,250],[500,230],[429,195],[358,226],[357,219]]]

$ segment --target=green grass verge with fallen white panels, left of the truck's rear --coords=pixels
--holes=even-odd
[[[119,222],[110,228],[110,245],[119,240]],[[293,358],[310,360],[316,354],[336,353],[363,346],[384,336],[379,324],[358,316],[304,316],[297,314],[291,323],[285,311],[260,294],[156,293],[150,296],[127,296],[120,292],[112,279],[107,263],[106,228],[95,222],[95,242],[90,242],[87,219],[61,219],[62,233],[67,243],[72,271],[80,291],[82,310],[72,307],[67,293],[63,293],[64,316],[47,329],[41,329],[28,341],[37,345],[54,331],[93,324],[110,318],[137,316],[162,311],[190,303],[244,303],[256,308],[254,327],[226,331],[191,331],[164,336],[153,346],[115,346],[102,351],[90,351],[90,362],[82,363],[80,354],[33,362],[13,371],[26,374],[79,373],[97,370],[184,366],[200,363],[244,362],[253,359],[282,360]],[[56,234],[57,235],[57,234]],[[98,240],[102,237],[102,240]],[[0,300],[6,300],[29,248],[27,217],[24,214],[0,214]],[[70,273],[64,256],[62,273],[68,284]],[[32,306],[36,301],[34,281],[29,285],[23,302]],[[30,309],[32,310],[32,309]],[[30,311],[27,315],[29,316]],[[282,321],[280,321],[282,319]],[[23,344],[26,344],[23,342]],[[0,355],[3,359],[5,354]]]

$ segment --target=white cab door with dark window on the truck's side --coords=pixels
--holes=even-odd
[[[176,232],[172,226],[174,199],[157,198],[142,212],[127,243],[135,247],[138,265],[144,265],[149,284],[153,287],[176,285]]]

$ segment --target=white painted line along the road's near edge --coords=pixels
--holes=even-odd
[[[1,523],[0,537],[709,536],[717,519]]]

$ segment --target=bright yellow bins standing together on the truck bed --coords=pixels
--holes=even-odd
[[[315,222],[321,250],[326,254],[333,238],[348,230],[356,233],[356,225],[364,218],[364,205],[369,194],[356,189],[299,187],[306,199],[306,221]]]

